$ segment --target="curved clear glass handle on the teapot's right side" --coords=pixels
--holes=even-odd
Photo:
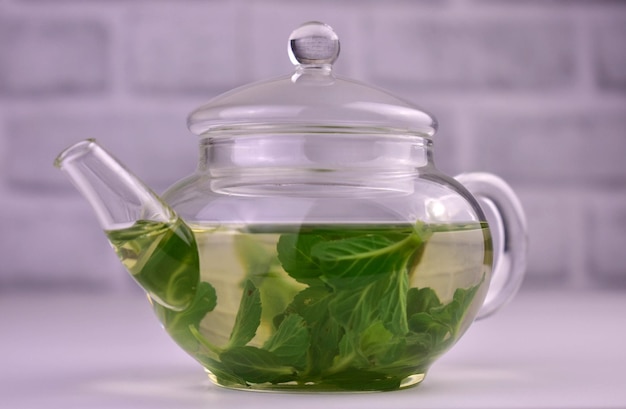
[[[493,239],[493,273],[477,319],[490,316],[506,304],[522,284],[526,272],[527,228],[522,205],[511,187],[490,173],[463,173],[455,177],[476,198]]]

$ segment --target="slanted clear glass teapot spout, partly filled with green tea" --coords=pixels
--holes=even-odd
[[[54,162],[91,204],[122,263],[149,297],[181,311],[195,297],[199,257],[191,229],[156,193],[95,140]]]

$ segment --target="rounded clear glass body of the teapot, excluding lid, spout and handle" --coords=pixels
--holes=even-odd
[[[198,173],[163,195],[193,231],[198,295],[185,311],[154,304],[157,315],[220,385],[419,383],[485,298],[480,207],[425,138],[352,135],[341,162],[328,153],[345,135],[290,138],[201,141]],[[250,144],[288,152],[266,163]]]

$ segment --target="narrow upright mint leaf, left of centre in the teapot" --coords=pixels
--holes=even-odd
[[[256,330],[260,324],[261,296],[252,281],[247,280],[226,348],[243,346],[250,342],[256,335]]]

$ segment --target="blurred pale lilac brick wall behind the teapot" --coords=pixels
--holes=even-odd
[[[435,113],[442,170],[519,193],[525,290],[626,289],[626,2],[0,0],[0,292],[134,288],[54,157],[96,137],[164,190],[195,167],[187,113],[290,72],[308,20],[339,74]]]

